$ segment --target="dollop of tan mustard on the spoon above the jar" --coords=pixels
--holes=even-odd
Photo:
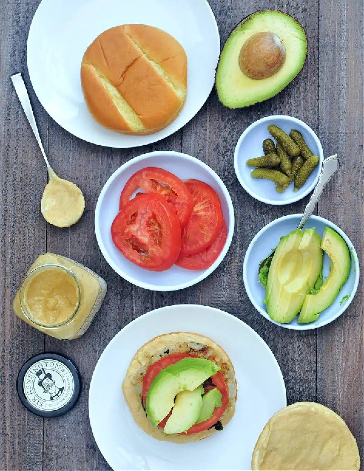
[[[49,182],[44,188],[40,211],[44,219],[53,226],[70,227],[82,216],[85,198],[77,185],[58,177],[48,169]]]

